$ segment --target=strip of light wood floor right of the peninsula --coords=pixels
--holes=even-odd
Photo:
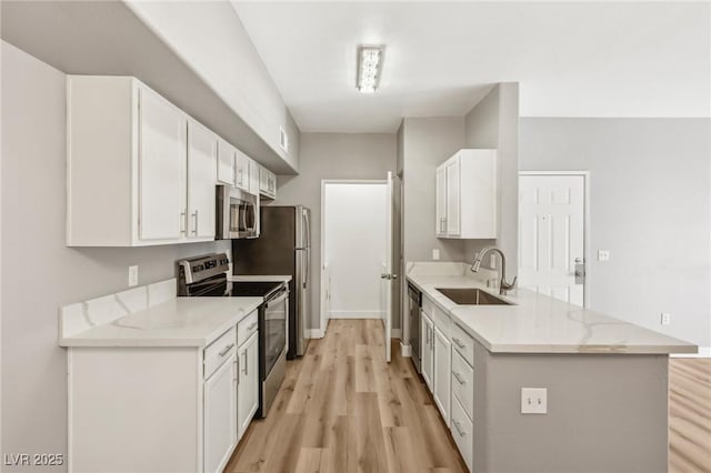
[[[669,471],[711,473],[711,359],[669,363]]]

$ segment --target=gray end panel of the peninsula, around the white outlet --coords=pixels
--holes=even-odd
[[[668,471],[668,358],[490,353],[474,345],[474,472]],[[521,414],[521,388],[548,414]],[[515,446],[513,446],[515,445]]]

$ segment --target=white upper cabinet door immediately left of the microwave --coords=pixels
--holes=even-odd
[[[214,238],[218,137],[188,121],[188,238]]]

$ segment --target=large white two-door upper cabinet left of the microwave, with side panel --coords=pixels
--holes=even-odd
[[[130,77],[69,76],[67,109],[68,245],[214,239],[209,130]]]

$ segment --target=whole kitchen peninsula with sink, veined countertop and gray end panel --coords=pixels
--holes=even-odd
[[[422,292],[422,374],[431,363],[428,384],[471,471],[667,471],[669,354],[695,345],[532,291],[501,296],[469,265],[445,265],[410,263],[408,281]],[[505,303],[460,305],[447,288]]]

